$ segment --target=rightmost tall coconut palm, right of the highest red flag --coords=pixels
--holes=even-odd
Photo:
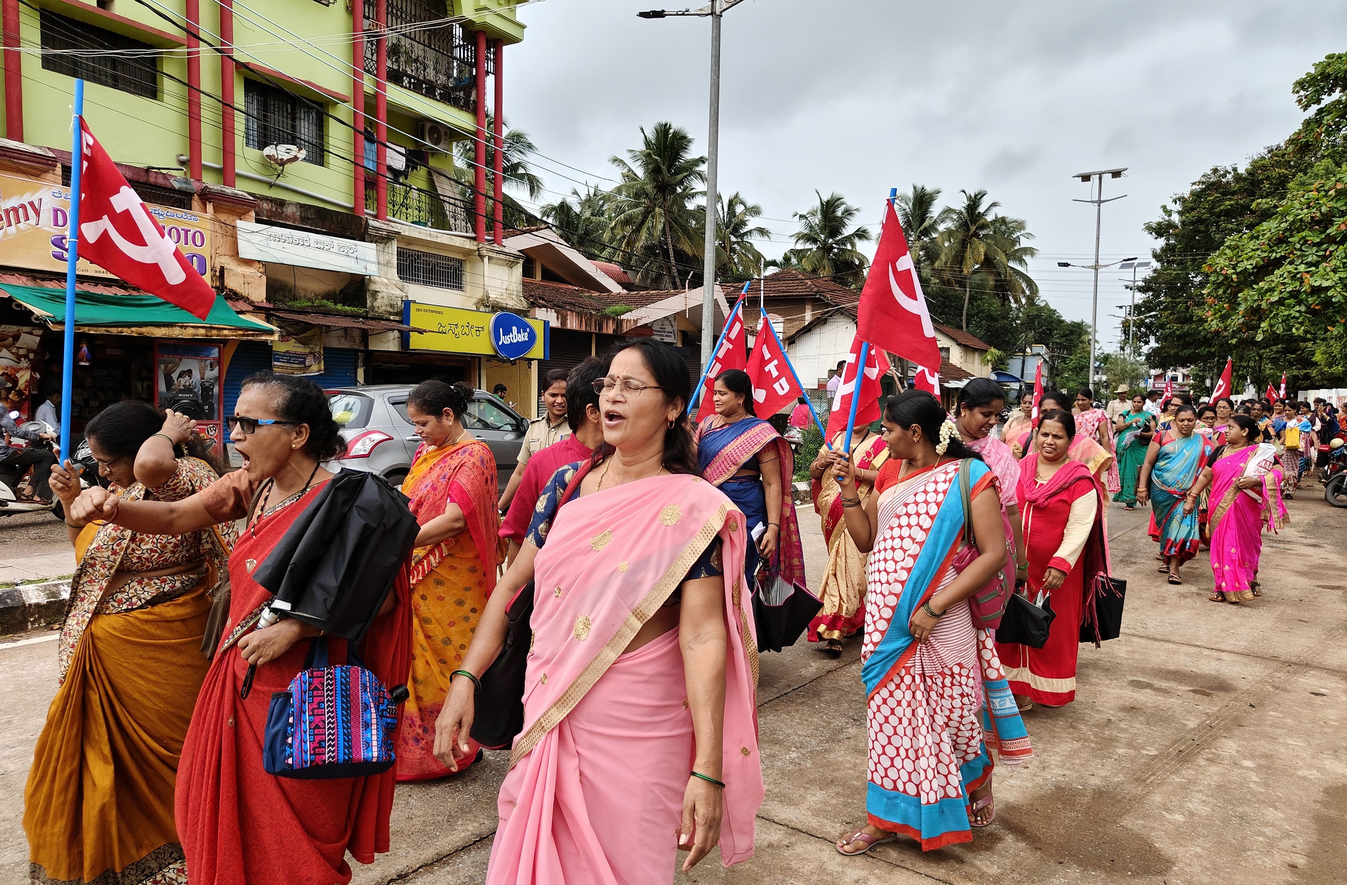
[[[952,210],[935,241],[939,248],[935,269],[951,287],[963,284],[963,330],[967,331],[974,282],[977,288],[1014,303],[1037,295],[1037,284],[1025,272],[1028,259],[1037,255],[1037,249],[1022,245],[1024,240],[1033,238],[1022,220],[993,214],[1001,203],[987,202],[987,191],[959,193],[963,205]]]

